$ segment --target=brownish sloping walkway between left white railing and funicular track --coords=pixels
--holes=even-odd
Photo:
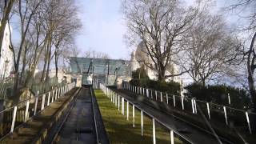
[[[34,116],[34,118],[30,118],[28,122],[15,129],[13,134],[6,136],[0,143],[42,143],[49,133],[50,127],[60,118],[77,90],[77,88],[74,88],[58,98],[57,101],[50,103],[41,113]]]

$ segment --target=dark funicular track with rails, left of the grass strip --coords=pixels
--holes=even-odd
[[[47,143],[109,143],[91,86],[82,86]]]

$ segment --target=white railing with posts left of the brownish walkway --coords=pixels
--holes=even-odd
[[[5,112],[12,112],[11,118],[11,125],[10,125],[10,132],[5,134],[0,140],[6,137],[6,135],[11,134],[14,132],[14,128],[17,127],[15,125],[16,120],[18,119],[18,108],[24,108],[26,106],[25,115],[22,115],[23,122],[27,122],[27,120],[34,115],[38,114],[40,111],[44,110],[47,106],[50,105],[51,102],[55,102],[58,98],[61,98],[66,92],[70,91],[75,87],[75,83],[66,84],[65,86],[60,86],[53,90],[46,92],[45,94],[38,93],[33,98],[28,98],[22,102],[19,102],[15,106],[11,106],[6,108],[5,110],[0,111],[0,114],[4,114]],[[41,103],[40,103],[41,102]],[[41,106],[38,106],[38,105]],[[11,111],[13,110],[13,111]],[[30,113],[32,112],[32,113]],[[14,127],[15,126],[15,127]]]

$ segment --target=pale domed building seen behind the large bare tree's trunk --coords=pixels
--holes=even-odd
[[[130,69],[134,71],[141,66],[145,67],[146,73],[150,79],[158,80],[158,72],[154,69],[154,62],[150,58],[150,55],[147,54],[146,47],[142,44],[142,42],[138,45],[137,50],[131,54]],[[178,66],[174,65],[173,63],[167,66],[166,75],[173,75],[178,73]],[[182,79],[179,76],[166,78],[166,82],[170,81],[179,82],[182,84]]]

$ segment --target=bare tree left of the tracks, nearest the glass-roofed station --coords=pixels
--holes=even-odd
[[[49,78],[51,59],[55,60],[56,76],[58,76],[58,58],[65,45],[74,42],[81,22],[78,19],[78,8],[71,0],[50,0],[46,10],[46,33],[49,34],[45,49],[45,63],[42,80]],[[68,47],[68,46],[66,46]]]

